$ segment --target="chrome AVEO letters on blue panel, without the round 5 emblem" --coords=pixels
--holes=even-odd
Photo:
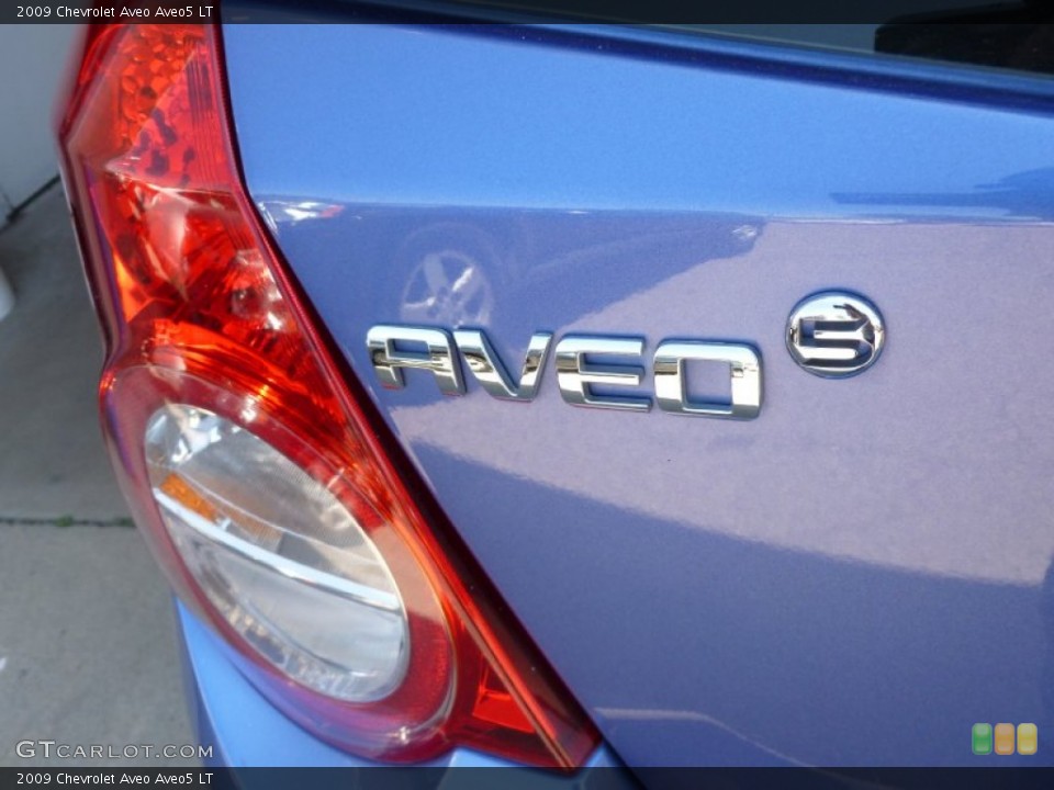
[[[456,329],[452,334],[435,327],[382,324],[367,335],[370,363],[378,380],[389,390],[405,386],[403,372],[431,373],[445,395],[464,395],[461,360],[492,397],[529,402],[549,358],[553,336],[536,332],[524,356],[519,377],[514,379],[482,329]],[[636,364],[604,364],[601,358],[644,358],[641,338],[597,335],[565,335],[553,349],[557,384],[572,406],[647,411],[652,398],[646,394],[610,394],[615,387],[639,387],[644,369]],[[663,340],[652,356],[654,400],[670,414],[728,419],[753,419],[761,411],[761,354],[745,343],[709,340]],[[724,402],[703,400],[688,394],[688,363],[718,362],[729,371],[729,397]],[[605,390],[595,392],[594,386]]]

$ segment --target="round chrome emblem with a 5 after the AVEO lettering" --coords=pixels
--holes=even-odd
[[[886,327],[863,296],[825,291],[799,302],[787,318],[787,350],[801,368],[825,379],[861,373],[878,361]]]

